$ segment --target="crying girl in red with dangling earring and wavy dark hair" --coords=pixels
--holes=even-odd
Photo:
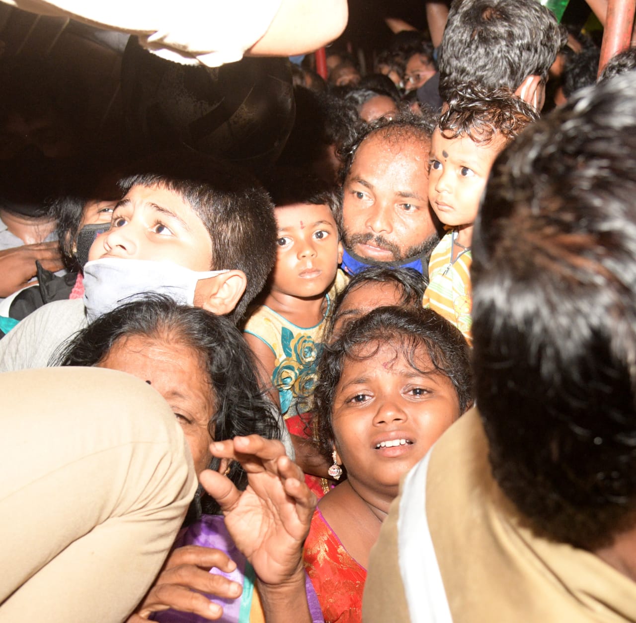
[[[341,482],[312,518],[305,568],[326,622],[357,622],[400,478],[471,404],[469,348],[434,311],[377,308],[325,347],[314,399],[321,448]]]

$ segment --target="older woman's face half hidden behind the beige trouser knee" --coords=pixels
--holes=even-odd
[[[174,341],[133,335],[118,339],[97,367],[127,372],[154,387],[183,428],[197,474],[209,465],[207,425],[214,400],[197,352]]]

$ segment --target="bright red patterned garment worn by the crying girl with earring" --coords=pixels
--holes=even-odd
[[[303,558],[325,623],[360,623],[366,569],[351,558],[318,509]]]

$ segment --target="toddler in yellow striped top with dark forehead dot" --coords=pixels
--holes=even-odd
[[[433,132],[429,200],[446,234],[431,254],[424,306],[450,320],[470,341],[473,224],[490,167],[538,115],[505,89],[464,88]]]

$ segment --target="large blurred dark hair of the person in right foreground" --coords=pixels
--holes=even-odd
[[[636,510],[636,74],[587,88],[495,161],[473,236],[476,401],[494,477],[584,549]]]

